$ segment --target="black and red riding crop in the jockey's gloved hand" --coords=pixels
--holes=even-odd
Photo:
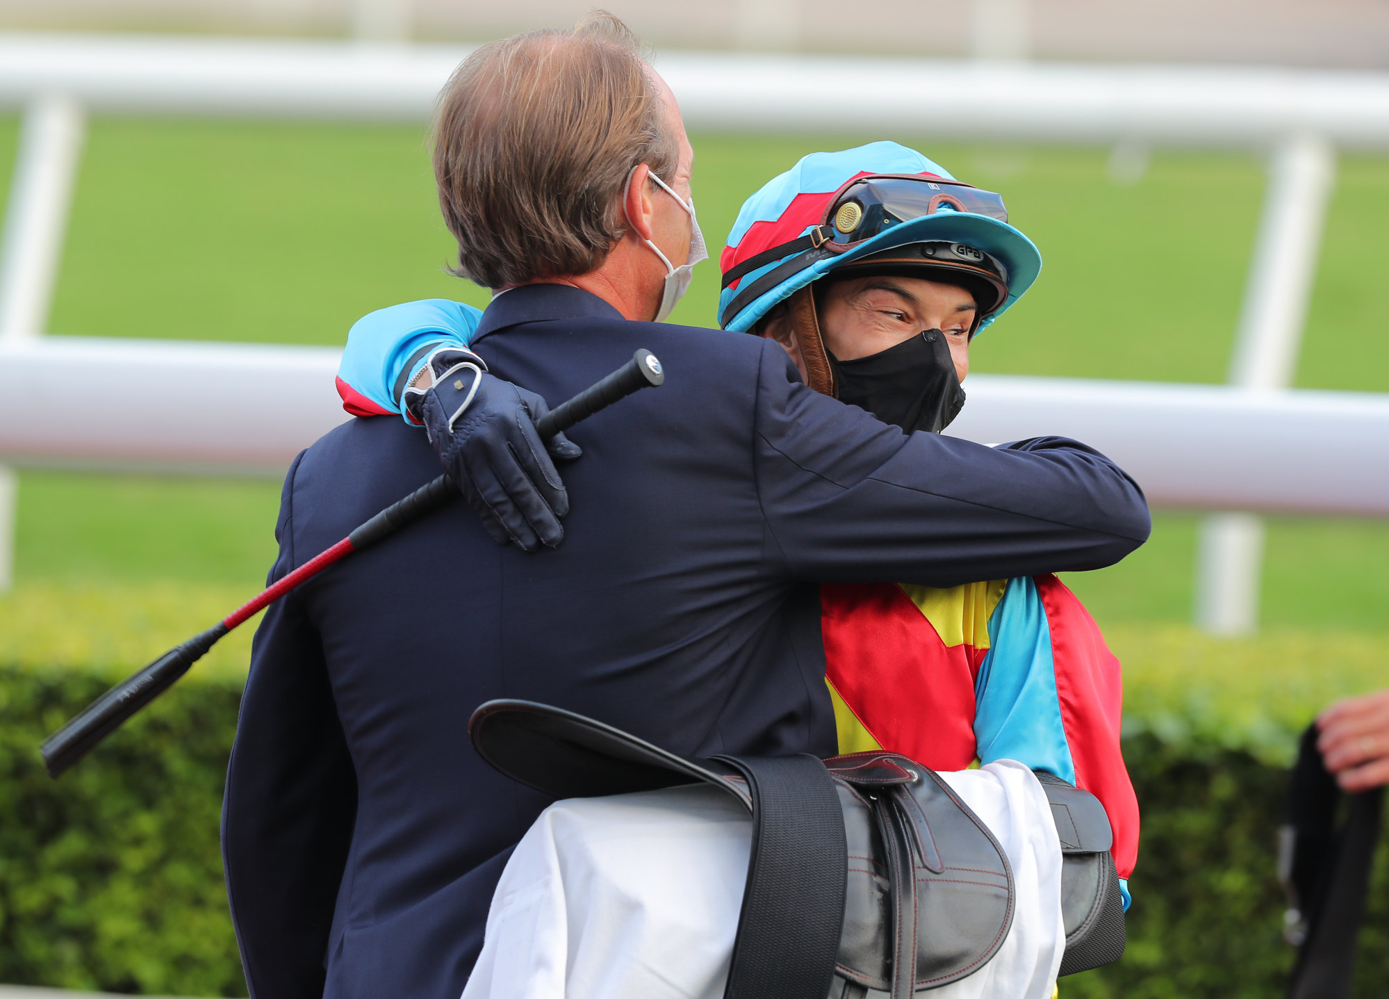
[[[618,399],[629,396],[638,389],[654,388],[664,381],[665,372],[656,354],[649,350],[638,350],[631,361],[611,375],[540,417],[535,424],[536,432],[542,439],[550,439],[581,420],[611,406]],[[296,586],[313,579],[333,563],[342,561],[353,552],[376,545],[425,514],[438,510],[457,495],[458,489],[447,475],[440,475],[433,482],[419,486],[358,525],[326,552],[261,591],[254,599],[233,610],[207,631],[169,649],[139,672],[122,679],[43,741],[39,749],[43,753],[43,766],[47,767],[49,777],[56,778],[63,774],[131,716],[164,693],[232,628],[243,624]]]

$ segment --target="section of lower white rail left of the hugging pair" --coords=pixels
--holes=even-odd
[[[340,356],[110,336],[0,343],[0,457],[281,478],[294,454],[347,420],[333,390]]]

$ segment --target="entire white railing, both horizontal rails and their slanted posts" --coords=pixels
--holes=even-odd
[[[0,457],[254,471],[282,467],[292,449],[342,418],[328,379],[322,392],[281,389],[285,371],[299,371],[296,365],[328,372],[332,352],[292,357],[272,347],[86,342],[86,350],[122,371],[131,385],[186,382],[185,375],[208,371],[208,350],[226,350],[235,364],[217,367],[214,382],[235,382],[239,397],[264,406],[256,421],[236,425],[240,443],[181,436],[196,420],[171,428],[167,418],[140,415],[135,406],[103,428],[100,449],[83,449],[51,410],[40,420],[21,402],[38,399],[36,386],[51,378],[47,360],[71,357],[75,349],[67,338],[39,333],[57,274],[83,114],[424,122],[465,53],[447,46],[0,35],[0,107],[25,110],[0,256]],[[1385,400],[1286,388],[1332,192],[1335,149],[1389,147],[1389,75],[765,54],[667,54],[658,67],[692,128],[1103,142],[1139,161],[1153,145],[1267,151],[1271,182],[1232,388],[1117,390],[1104,382],[975,377],[960,432],[1003,439],[1035,427],[1104,442],[1154,502],[1222,511],[1203,529],[1199,618],[1226,634],[1249,631],[1256,621],[1261,543],[1249,511],[1389,514],[1371,502],[1385,495],[1386,450],[1356,443],[1383,439],[1374,435],[1382,434]],[[297,385],[303,389],[304,382]],[[213,397],[200,395],[189,404],[211,407]],[[1158,410],[1167,432],[1147,422]],[[1307,420],[1329,436],[1315,438],[1299,461],[1324,461],[1336,475],[1288,475],[1288,454],[1270,428],[1296,434]],[[1186,429],[1175,429],[1178,424]],[[1354,488],[1347,485],[1349,468],[1356,470]],[[13,507],[13,475],[0,472],[0,585],[8,571],[6,524],[13,510],[7,515],[6,506]],[[1360,499],[1347,499],[1351,493]]]

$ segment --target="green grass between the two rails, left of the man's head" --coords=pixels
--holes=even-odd
[[[97,119],[50,329],[340,345],[444,272],[415,128]]]

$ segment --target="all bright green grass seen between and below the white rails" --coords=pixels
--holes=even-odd
[[[907,136],[906,142],[914,143]],[[717,257],[743,197],[826,136],[694,136],[694,197]],[[1036,288],[975,347],[976,371],[1221,381],[1263,172],[1253,157],[1158,151],[1115,185],[1106,150],[914,143],[1003,190],[1042,247]],[[14,121],[0,122],[0,182]],[[1389,390],[1378,239],[1389,161],[1347,157],[1332,204],[1299,385]],[[342,343],[363,313],[426,296],[483,304],[446,274],[450,239],[421,129],[97,119],[50,328],[57,333]],[[708,324],[717,264],[675,320]],[[21,582],[258,585],[278,488],[261,482],[26,472]],[[1125,564],[1072,577],[1101,621],[1185,620],[1195,520],[1160,515]],[[1271,525],[1265,620],[1381,629],[1389,529]]]

